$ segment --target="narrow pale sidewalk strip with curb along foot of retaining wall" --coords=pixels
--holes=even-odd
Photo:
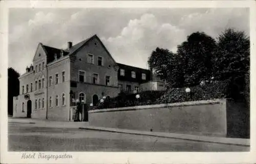
[[[98,130],[98,131],[108,131],[108,132],[117,132],[117,133],[124,133],[124,134],[136,134],[136,135],[147,135],[147,136],[157,136],[161,138],[169,138],[169,139],[180,139],[180,140],[187,140],[187,141],[196,141],[196,142],[208,142],[208,143],[217,143],[217,144],[225,144],[225,145],[237,145],[237,146],[246,146],[250,147],[250,143],[232,143],[232,142],[225,142],[225,141],[207,141],[204,139],[191,139],[188,137],[177,137],[177,136],[166,136],[161,134],[150,134],[147,131],[141,131],[139,132],[132,132],[132,130],[129,129],[130,132],[126,132],[122,129],[103,129],[99,127],[79,127],[79,129],[86,129],[86,130]],[[127,130],[127,129],[126,129]]]

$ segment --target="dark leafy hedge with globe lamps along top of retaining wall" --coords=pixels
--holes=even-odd
[[[203,81],[198,86],[190,87],[190,92],[186,92],[186,87],[170,88],[166,91],[144,91],[137,93],[140,95],[138,99],[137,94],[122,93],[103,102],[99,101],[96,106],[91,107],[91,110],[226,98],[227,89],[228,81]]]

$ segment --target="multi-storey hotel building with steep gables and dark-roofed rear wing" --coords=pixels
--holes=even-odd
[[[67,49],[39,43],[31,66],[19,77],[13,117],[72,121],[76,100],[96,105],[104,96],[139,92],[151,78],[150,70],[116,63],[97,35],[74,46],[68,42]]]

